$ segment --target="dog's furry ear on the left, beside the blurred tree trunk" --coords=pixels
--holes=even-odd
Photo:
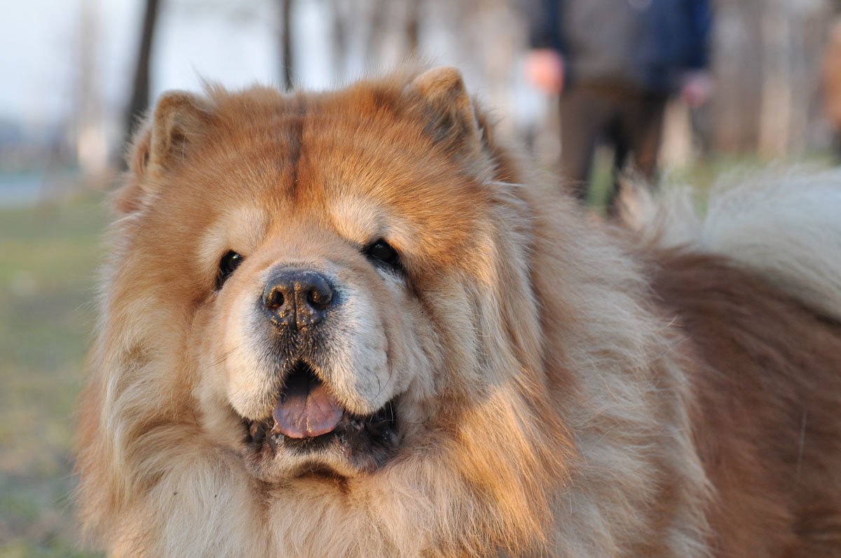
[[[120,213],[139,209],[156,194],[161,179],[190,156],[212,114],[209,103],[186,92],[166,92],[158,99],[126,155],[130,177],[114,198]]]

